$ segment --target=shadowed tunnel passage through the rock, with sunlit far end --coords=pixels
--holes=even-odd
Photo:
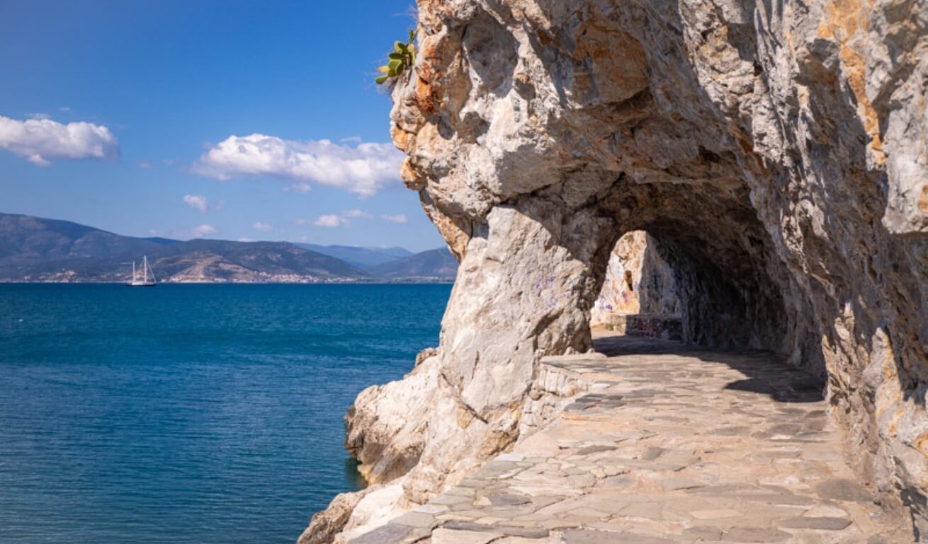
[[[746,195],[716,191],[635,183],[603,200],[619,228],[593,269],[591,327],[772,351],[823,377],[816,328],[756,212]]]

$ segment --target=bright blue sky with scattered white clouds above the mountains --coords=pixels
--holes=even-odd
[[[0,211],[139,236],[439,247],[397,179],[373,83],[410,8],[2,2]]]

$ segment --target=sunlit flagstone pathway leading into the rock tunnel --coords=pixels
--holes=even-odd
[[[589,389],[553,424],[351,544],[901,544],[821,387],[763,354],[627,336],[548,358]]]

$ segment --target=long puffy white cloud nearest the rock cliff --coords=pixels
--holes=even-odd
[[[283,140],[254,133],[229,136],[194,164],[200,175],[272,175],[372,196],[399,179],[403,160],[392,144],[338,145],[329,140]]]

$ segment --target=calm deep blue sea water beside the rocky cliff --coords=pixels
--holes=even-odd
[[[0,285],[0,543],[292,544],[450,285]]]

